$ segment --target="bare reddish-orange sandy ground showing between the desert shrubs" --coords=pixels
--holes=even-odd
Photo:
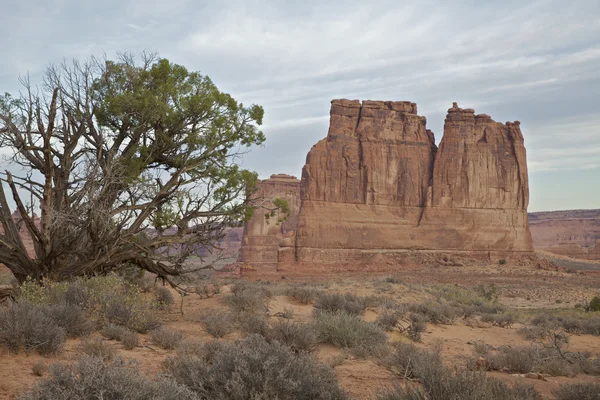
[[[314,272],[314,271],[313,271]],[[404,283],[391,284],[385,277],[393,275]],[[285,276],[285,280],[281,279]],[[389,271],[346,271],[325,276],[297,271],[277,271],[276,274],[248,274],[247,279],[274,280],[273,287],[278,284],[294,282],[312,282],[323,290],[351,292],[358,295],[385,295],[399,302],[420,302],[428,297],[426,288],[437,284],[458,284],[474,286],[476,284],[494,284],[500,294],[499,301],[516,310],[527,312],[531,309],[571,309],[573,306],[600,294],[600,273],[585,271],[566,273],[556,270],[541,270],[526,267],[493,266],[477,267],[411,267],[390,268]],[[218,278],[213,278],[218,279]],[[227,280],[226,282],[231,282]],[[180,313],[179,300],[171,310],[164,312],[165,324],[184,332],[187,339],[209,341],[212,338],[204,332],[198,321],[199,315],[208,309],[226,309],[223,297],[228,286],[224,286],[221,294],[202,299],[197,295],[183,298],[183,315]],[[310,321],[313,307],[303,305],[290,297],[276,295],[270,303],[270,315],[282,312],[286,308],[293,309],[293,319]],[[378,309],[368,309],[363,318],[373,321]],[[276,317],[272,317],[275,319]],[[471,324],[473,325],[473,324]],[[472,356],[474,342],[484,342],[491,346],[520,346],[527,340],[518,333],[520,325],[511,328],[486,326],[485,324],[467,326],[462,321],[454,325],[428,325],[420,346],[441,346],[443,360],[448,365],[465,365],[466,359]],[[221,340],[235,340],[239,333],[232,333]],[[125,350],[116,341],[110,343],[118,349],[118,354],[139,362],[143,371],[155,374],[160,371],[161,363],[173,351],[166,351],[152,345],[148,335],[141,335],[141,345],[134,350]],[[391,342],[408,341],[398,332],[389,333]],[[0,349],[0,399],[12,399],[19,393],[31,388],[39,379],[32,373],[34,363],[42,360],[48,364],[69,361],[78,355],[79,340],[69,340],[65,351],[58,356],[42,357],[38,354],[10,354]],[[600,356],[600,337],[590,335],[572,336],[569,343],[571,351],[588,351]],[[341,386],[355,399],[374,399],[377,392],[384,387],[399,384],[400,380],[375,360],[361,360],[331,345],[321,345],[315,356],[335,365],[335,371]],[[547,381],[527,379],[503,372],[491,375],[507,382],[526,379],[544,396],[552,398],[552,391],[561,383],[575,381],[600,382],[597,377],[578,375],[574,378],[550,377]]]

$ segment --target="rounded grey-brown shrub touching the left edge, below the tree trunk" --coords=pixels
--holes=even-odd
[[[0,344],[10,351],[55,354],[62,350],[66,331],[44,311],[26,300],[0,309]]]

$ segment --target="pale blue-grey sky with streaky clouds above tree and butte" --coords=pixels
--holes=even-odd
[[[488,5],[482,5],[486,3]],[[493,3],[493,4],[492,4]],[[46,65],[157,51],[265,107],[244,166],[300,175],[333,98],[520,120],[531,211],[600,208],[600,1],[2,0],[0,92]]]

